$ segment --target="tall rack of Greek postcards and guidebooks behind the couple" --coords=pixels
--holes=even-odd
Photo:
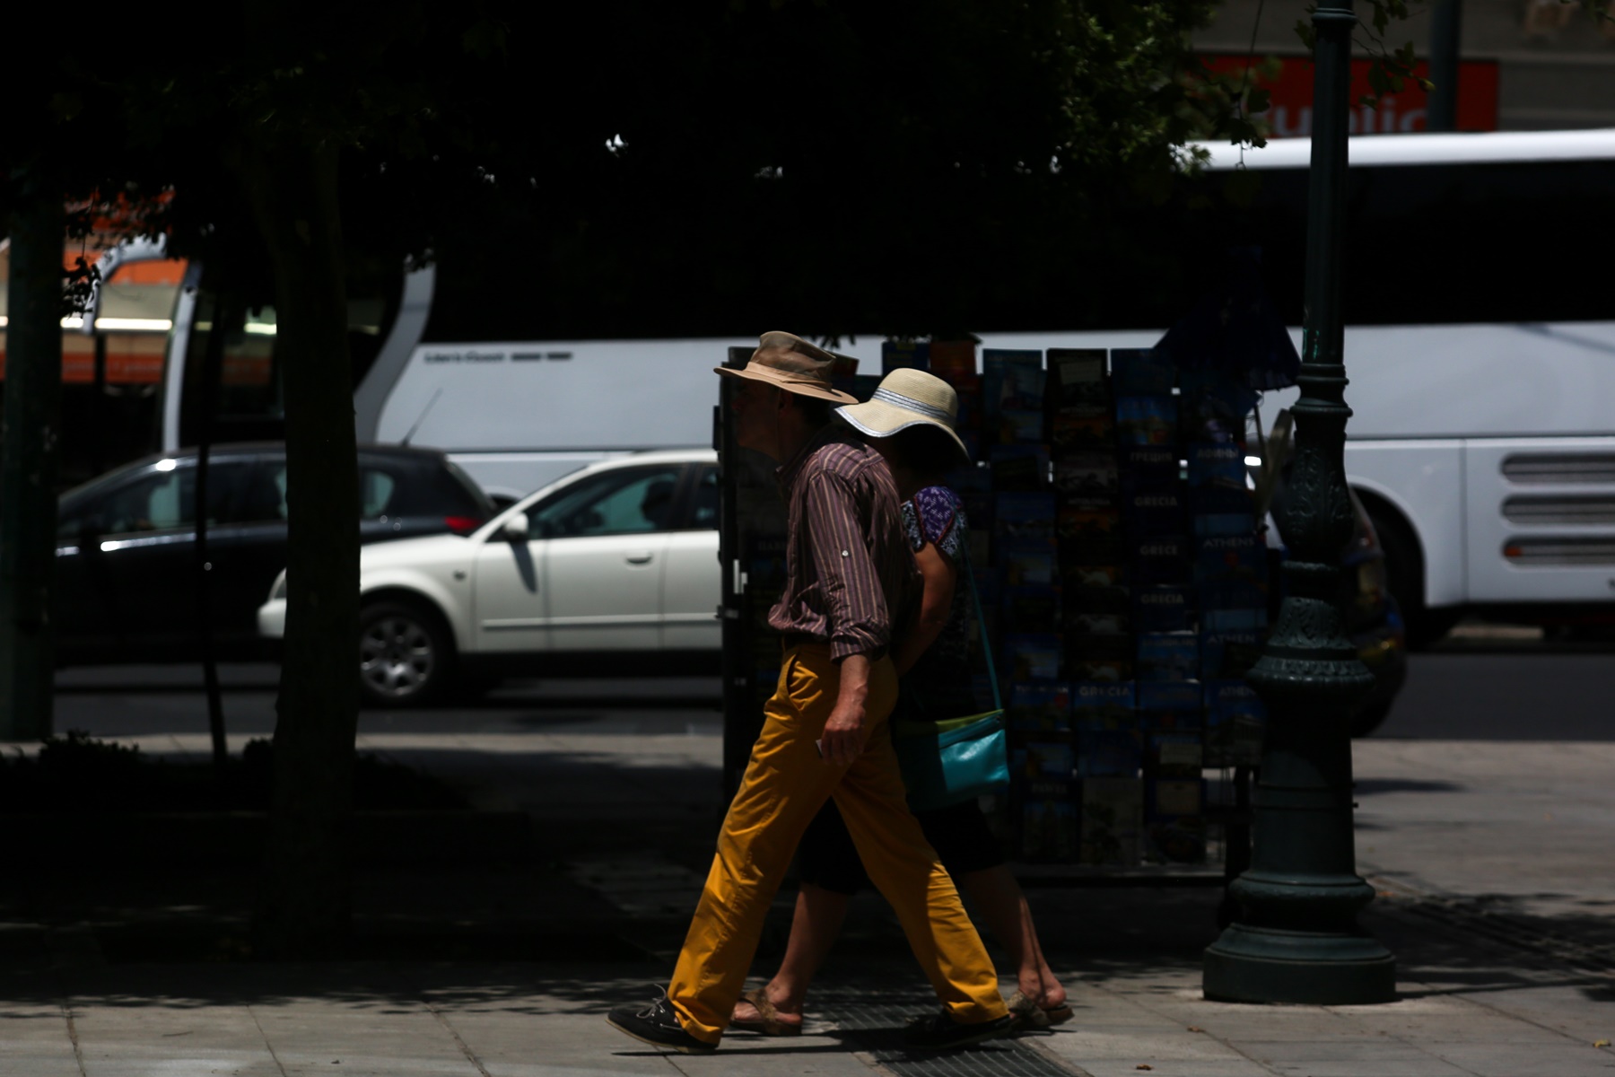
[[[1250,394],[1160,349],[977,350],[888,341],[882,368],[953,384],[977,460],[951,484],[985,610],[977,696],[987,709],[992,656],[1008,710],[1006,854],[1026,885],[1221,885],[1248,864],[1265,720],[1242,678],[1269,612]],[[880,379],[856,360],[841,375],[859,399]],[[778,675],[785,510],[772,460],[733,444],[719,381],[730,796]]]

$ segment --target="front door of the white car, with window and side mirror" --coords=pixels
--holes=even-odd
[[[476,552],[480,651],[654,651],[682,463],[596,471]]]

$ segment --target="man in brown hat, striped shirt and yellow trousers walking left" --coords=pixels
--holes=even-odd
[[[943,1011],[909,1027],[919,1048],[1009,1030],[998,975],[953,880],[908,811],[887,717],[896,673],[887,649],[914,585],[896,486],[879,454],[830,426],[828,352],[766,333],[733,399],[735,439],[780,463],[787,583],[769,623],[785,660],[762,733],[719,833],[717,856],[667,991],[607,1017],[620,1032],[698,1054],[717,1048],[774,893],[828,798],[870,880],[891,903]]]

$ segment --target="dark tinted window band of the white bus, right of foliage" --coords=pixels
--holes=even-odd
[[[1260,247],[1261,276],[1287,325],[1303,320],[1308,176],[1300,168],[1252,173],[1248,207],[1185,208],[1223,176],[1184,184],[1169,228],[1139,223],[1177,266],[1203,265],[1227,247]],[[1615,245],[1604,212],[1615,160],[1468,161],[1352,168],[1347,179],[1347,325],[1599,321],[1615,300],[1597,274],[1576,274]],[[1206,287],[1206,283],[1202,284]],[[1179,310],[1192,289],[1172,295]],[[1164,321],[1177,315],[1156,312]],[[1140,323],[1142,325],[1142,323]],[[1151,323],[1153,325],[1153,323]]]

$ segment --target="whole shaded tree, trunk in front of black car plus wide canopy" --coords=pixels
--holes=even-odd
[[[468,308],[520,304],[551,337],[1080,325],[1137,289],[1127,212],[1172,147],[1248,134],[1195,74],[1210,11],[249,0],[116,61],[26,57],[0,210],[48,187],[81,226],[116,208],[221,302],[276,305],[291,534],[260,951],[347,924],[355,270],[438,258]],[[52,18],[74,40],[78,13]]]

